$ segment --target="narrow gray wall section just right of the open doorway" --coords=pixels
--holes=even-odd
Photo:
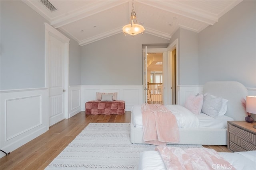
[[[178,29],[170,43],[178,39],[178,85],[198,85],[198,33]]]

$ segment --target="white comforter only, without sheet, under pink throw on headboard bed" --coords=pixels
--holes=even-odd
[[[179,128],[198,128],[199,119],[191,111],[180,105],[167,105],[166,108],[175,115]],[[142,127],[141,106],[132,107],[132,118],[134,125]]]

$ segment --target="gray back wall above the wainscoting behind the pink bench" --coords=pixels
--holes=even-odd
[[[169,43],[168,40],[123,33],[81,47],[82,85],[142,84],[142,44]]]

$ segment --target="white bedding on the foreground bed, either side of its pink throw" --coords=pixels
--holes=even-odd
[[[256,167],[256,150],[248,152],[219,152],[220,156],[227,160],[237,170],[254,170]],[[218,169],[218,165],[212,165],[213,169]],[[229,168],[229,165],[226,169]],[[158,151],[149,150],[140,153],[138,170],[167,170],[161,155]]]

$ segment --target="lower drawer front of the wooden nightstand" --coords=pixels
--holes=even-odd
[[[229,140],[230,140],[230,143],[232,142],[245,150],[256,150],[256,145],[254,145],[254,144],[252,144],[234,134],[230,133]],[[237,152],[237,150],[236,150],[236,152]]]

